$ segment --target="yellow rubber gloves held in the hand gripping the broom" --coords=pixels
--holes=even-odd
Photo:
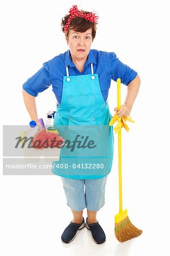
[[[132,120],[132,118],[130,117],[130,115],[128,115],[128,117],[119,117],[117,115],[117,113],[114,114],[113,118],[111,118],[109,126],[114,125],[114,123],[118,121],[117,125],[114,127],[114,131],[115,133],[117,133],[119,130],[122,129],[122,127],[125,128],[126,131],[129,131],[130,129],[128,128],[128,125],[126,123],[126,121],[130,121],[132,123],[134,123],[135,121]]]

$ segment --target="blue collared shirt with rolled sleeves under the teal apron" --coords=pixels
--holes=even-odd
[[[60,105],[63,77],[67,76],[65,67],[68,66],[69,76],[87,75],[91,73],[91,63],[93,63],[94,73],[98,74],[99,85],[105,102],[107,102],[111,79],[117,81],[120,78],[122,84],[128,85],[137,75],[137,72],[123,64],[114,52],[97,51],[96,49],[90,49],[84,70],[81,73],[73,63],[71,53],[68,50],[43,63],[43,67],[24,82],[23,89],[36,97],[40,92],[52,85],[57,105]]]

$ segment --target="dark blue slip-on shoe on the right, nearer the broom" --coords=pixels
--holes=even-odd
[[[100,244],[106,241],[105,232],[97,222],[88,224],[88,218],[86,218],[86,228],[92,232],[93,241]]]

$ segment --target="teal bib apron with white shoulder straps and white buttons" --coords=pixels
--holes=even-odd
[[[67,143],[61,147],[60,160],[53,162],[52,172],[71,179],[105,177],[113,162],[112,116],[92,63],[91,71],[89,75],[69,76],[66,67],[61,104],[54,118],[54,126]]]

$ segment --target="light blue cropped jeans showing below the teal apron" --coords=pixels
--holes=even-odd
[[[67,204],[76,212],[87,208],[97,211],[105,204],[107,176],[101,179],[68,179],[61,177]]]

